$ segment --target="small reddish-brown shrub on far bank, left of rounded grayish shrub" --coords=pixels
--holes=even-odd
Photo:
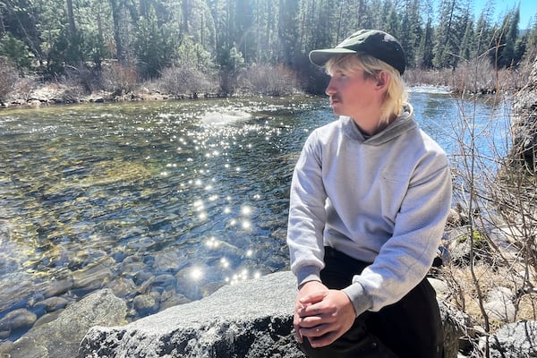
[[[138,72],[134,64],[103,64],[101,86],[103,90],[123,95],[132,92],[138,84]]]

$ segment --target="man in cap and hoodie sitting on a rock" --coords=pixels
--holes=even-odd
[[[425,276],[451,175],[406,102],[404,50],[386,32],[360,30],[310,60],[326,67],[339,118],[311,132],[294,168],[287,244],[299,344],[309,357],[442,357]]]

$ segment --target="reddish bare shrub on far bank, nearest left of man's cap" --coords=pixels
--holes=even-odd
[[[241,73],[238,88],[246,94],[285,96],[299,92],[299,81],[284,65],[254,64]]]

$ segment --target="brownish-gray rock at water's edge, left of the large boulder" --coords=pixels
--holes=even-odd
[[[67,358],[77,354],[81,339],[96,325],[125,323],[126,303],[105,289],[68,305],[56,320],[31,328],[0,353],[11,358]]]

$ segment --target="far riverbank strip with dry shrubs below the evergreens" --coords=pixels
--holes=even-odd
[[[455,71],[408,69],[404,80],[410,88],[427,86],[449,89],[454,94],[514,93],[524,86],[531,68],[531,64],[524,64],[517,71],[494,71],[490,64],[461,64]],[[115,69],[113,72],[103,70],[103,73],[85,76],[79,73],[80,78],[66,77],[62,81],[39,81],[31,76],[13,76],[11,87],[0,91],[0,108],[185,98],[279,97],[304,92],[292,73],[284,72],[278,67],[269,69],[258,66],[242,73],[240,81],[233,80],[235,87],[231,91],[221,90],[217,83],[204,82],[205,85],[201,87],[195,83],[186,84],[173,77],[177,73],[168,73],[157,81],[136,81],[135,76],[128,74],[125,69]],[[251,78],[254,74],[257,76],[255,80]],[[319,69],[312,76],[317,83],[314,91],[322,94],[322,89],[328,82],[327,76]],[[197,78],[195,80],[200,81]]]

